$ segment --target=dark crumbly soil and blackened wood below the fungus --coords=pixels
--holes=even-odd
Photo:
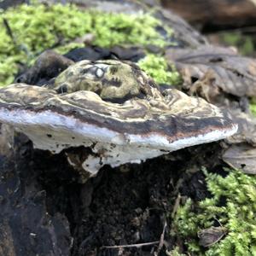
[[[165,255],[175,242],[169,236],[169,217],[177,194],[195,200],[208,196],[196,166],[205,159],[212,160],[208,167],[216,166],[219,145],[207,146],[141,165],[107,166],[79,184],[65,152],[35,150],[25,136],[17,136],[15,155],[0,162],[0,255]],[[148,242],[154,244],[111,248]]]

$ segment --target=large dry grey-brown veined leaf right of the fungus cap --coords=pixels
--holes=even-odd
[[[183,89],[220,103],[224,95],[256,96],[256,61],[231,48],[201,46],[197,49],[167,49],[183,76]]]

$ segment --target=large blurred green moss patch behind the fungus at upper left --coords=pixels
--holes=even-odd
[[[9,36],[3,19],[8,20],[15,41]],[[18,71],[18,63],[32,61],[44,49],[59,52],[73,49],[69,44],[86,33],[95,35],[93,44],[111,47],[115,44],[154,44],[165,46],[166,40],[155,29],[164,26],[151,15],[107,14],[80,10],[74,5],[21,4],[0,13],[0,85],[9,84]],[[168,35],[172,34],[166,28]],[[67,44],[67,46],[65,46]]]

